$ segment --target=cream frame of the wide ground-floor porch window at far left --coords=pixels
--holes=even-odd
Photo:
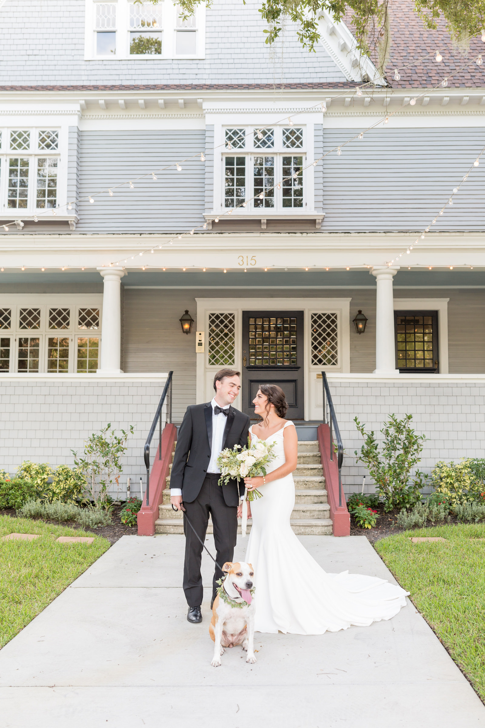
[[[0,378],[9,376],[12,373],[27,374],[18,371],[18,348],[19,339],[22,336],[39,336],[39,372],[31,372],[33,375],[49,373],[47,369],[48,339],[55,336],[66,336],[69,339],[69,365],[68,371],[60,371],[58,374],[77,372],[77,340],[80,336],[90,336],[100,339],[98,349],[98,368],[101,357],[102,331],[103,331],[103,295],[97,293],[76,293],[71,296],[63,294],[39,293],[36,295],[24,295],[23,293],[12,293],[0,295],[0,309],[9,308],[12,310],[11,328],[0,329],[2,338],[11,338],[10,346],[10,367],[8,372],[0,370]],[[41,311],[40,327],[38,329],[19,328],[20,309],[35,308]],[[71,320],[68,329],[49,329],[49,309],[71,309]],[[93,331],[80,329],[78,326],[79,309],[97,308],[100,310],[99,328]],[[56,374],[57,372],[50,372]],[[91,372],[95,374],[96,371]]]

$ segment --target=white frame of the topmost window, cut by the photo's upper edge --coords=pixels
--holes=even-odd
[[[104,0],[106,1],[106,0]],[[84,32],[84,60],[198,60],[205,58],[206,47],[206,7],[204,3],[196,7],[195,32],[196,52],[191,55],[177,55],[177,32],[186,32],[177,28],[177,4],[171,0],[160,0],[161,12],[161,55],[130,55],[129,52],[129,6],[132,0],[108,0],[116,5],[116,54],[97,55],[96,52],[96,5],[103,4],[103,0],[85,0],[85,32]],[[114,29],[113,29],[114,30]]]

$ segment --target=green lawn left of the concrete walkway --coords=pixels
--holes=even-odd
[[[28,625],[110,544],[96,534],[0,515],[0,537],[40,534],[33,541],[0,541],[0,648]],[[92,544],[62,544],[59,536],[94,536]]]

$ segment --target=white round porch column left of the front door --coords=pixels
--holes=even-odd
[[[121,374],[121,278],[122,268],[98,268],[103,276],[103,332],[98,373]]]

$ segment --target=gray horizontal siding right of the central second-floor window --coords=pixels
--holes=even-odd
[[[324,130],[324,151],[360,129]],[[419,231],[485,145],[485,129],[378,129],[324,159],[326,232]],[[485,165],[473,168],[434,232],[484,230]]]

